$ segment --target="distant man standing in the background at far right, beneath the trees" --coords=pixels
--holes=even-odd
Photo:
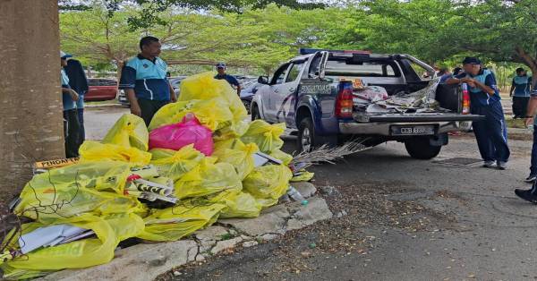
[[[513,97],[513,118],[525,118],[531,88],[532,77],[526,74],[524,68],[517,68],[509,91],[509,97]]]

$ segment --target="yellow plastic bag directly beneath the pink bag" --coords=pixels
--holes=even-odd
[[[194,145],[188,145],[178,151],[171,149],[151,149],[153,155],[151,164],[158,166],[160,175],[178,180],[184,174],[190,172],[205,156],[194,149]]]

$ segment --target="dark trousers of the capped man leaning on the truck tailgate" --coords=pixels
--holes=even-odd
[[[510,156],[507,146],[507,125],[501,103],[472,107],[474,115],[484,115],[485,120],[473,122],[473,133],[482,159],[507,162]]]

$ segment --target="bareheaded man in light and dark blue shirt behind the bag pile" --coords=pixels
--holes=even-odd
[[[119,84],[131,102],[131,113],[141,116],[148,126],[160,107],[176,101],[166,78],[167,64],[158,57],[160,48],[158,38],[141,38],[141,53],[124,65]]]

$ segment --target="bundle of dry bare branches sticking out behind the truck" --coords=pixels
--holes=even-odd
[[[345,157],[345,155],[369,149],[362,142],[348,141],[342,146],[330,147],[323,144],[318,149],[313,149],[310,152],[303,151],[293,157],[290,166],[301,166],[307,168],[309,166],[318,165],[320,163],[336,164],[337,160]]]

